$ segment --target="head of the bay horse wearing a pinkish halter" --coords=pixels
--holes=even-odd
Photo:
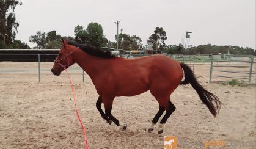
[[[75,63],[72,57],[73,51],[75,50],[74,46],[68,45],[65,39],[62,39],[62,42],[63,46],[54,60],[53,68],[51,68],[51,72],[56,76],[59,76],[64,69],[67,69]]]

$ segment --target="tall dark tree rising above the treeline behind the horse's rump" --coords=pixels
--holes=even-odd
[[[165,40],[167,40],[166,31],[164,31],[163,27],[156,27],[154,34],[152,34],[149,39],[155,40],[156,43],[154,44],[154,49],[162,50],[165,48],[166,43],[164,43]]]

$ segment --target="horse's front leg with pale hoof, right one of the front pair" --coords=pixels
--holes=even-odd
[[[127,125],[125,123],[119,122],[119,120],[117,120],[117,118],[115,118],[111,114],[113,101],[114,101],[114,98],[104,98],[103,97],[103,104],[104,104],[104,107],[105,107],[105,113],[106,113],[107,117],[109,117],[115,123],[115,125],[120,126],[121,128],[126,130]]]

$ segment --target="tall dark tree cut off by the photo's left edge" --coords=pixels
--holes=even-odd
[[[17,0],[0,0],[0,48],[8,48],[18,32],[19,23],[14,13],[16,5],[22,3]]]

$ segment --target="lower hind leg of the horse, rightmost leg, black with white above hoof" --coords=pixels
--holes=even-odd
[[[163,133],[164,125],[165,125],[166,121],[168,120],[168,118],[170,117],[170,115],[172,115],[172,112],[175,111],[175,109],[176,109],[176,107],[169,100],[168,108],[166,109],[166,114],[164,115],[164,117],[162,118],[162,120],[160,121],[160,123],[158,125],[158,134]]]

